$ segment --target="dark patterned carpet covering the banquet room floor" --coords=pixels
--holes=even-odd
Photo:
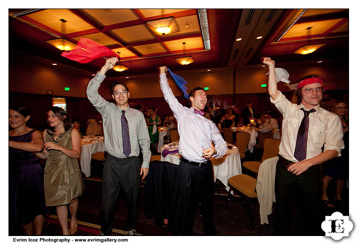
[[[100,211],[101,204],[101,182],[98,180],[84,180],[85,194],[79,198],[79,210],[77,218],[80,221],[77,236],[94,236],[100,233]],[[155,218],[147,219],[143,209],[143,190],[141,188],[140,207],[138,210],[138,234],[145,236],[173,236],[165,226],[156,226]],[[224,194],[216,194],[213,203],[213,217],[219,236],[273,236],[274,235],[274,217],[273,213],[268,216],[269,224],[260,224],[259,204],[257,199],[252,199],[250,207],[252,209],[254,231],[251,229],[249,216],[246,208],[237,199],[230,201],[229,209],[226,211],[226,198]],[[334,211],[323,207],[322,215],[331,215]],[[337,211],[337,210],[335,210]],[[339,210],[344,215],[348,215],[348,208]],[[59,236],[61,229],[56,220],[56,210],[50,210],[51,218],[46,218],[43,235]],[[127,208],[123,200],[122,194],[119,195],[118,207],[114,220],[113,235],[124,235],[125,223],[127,218]],[[297,236],[297,209],[293,207],[290,235]],[[193,235],[203,235],[203,223],[199,211],[196,213]],[[324,235],[324,234],[322,234]]]

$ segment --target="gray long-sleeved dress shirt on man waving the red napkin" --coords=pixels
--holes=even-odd
[[[96,107],[103,118],[104,149],[117,158],[127,158],[123,153],[122,143],[122,108],[110,103],[98,94],[98,88],[106,76],[97,72],[87,86],[87,97]],[[140,148],[143,153],[142,168],[149,168],[151,151],[148,128],[142,112],[129,106],[125,109],[128,120],[129,138],[131,140],[131,154],[129,157],[138,157]]]

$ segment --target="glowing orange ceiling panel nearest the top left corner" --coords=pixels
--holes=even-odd
[[[66,20],[66,33],[94,28],[68,9],[45,9],[26,15],[58,32],[61,32],[61,20]]]

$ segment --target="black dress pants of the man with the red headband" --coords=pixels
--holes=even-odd
[[[321,229],[318,221],[321,166],[312,166],[298,176],[288,172],[287,166],[287,160],[280,157],[275,179],[275,235],[290,235],[291,205],[296,200],[299,235],[318,236]]]

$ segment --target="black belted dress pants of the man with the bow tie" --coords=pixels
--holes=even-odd
[[[179,226],[182,235],[191,235],[196,210],[200,210],[205,235],[216,235],[212,216],[214,183],[211,164],[200,167],[180,161],[178,170]]]

